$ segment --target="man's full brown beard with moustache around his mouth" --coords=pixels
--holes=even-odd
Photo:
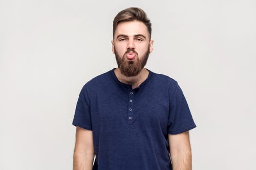
[[[134,54],[136,54],[136,58],[134,61],[127,61],[125,59],[125,55],[129,52],[133,52]],[[115,52],[115,56],[116,56],[116,61],[118,64],[118,68],[120,69],[121,73],[127,77],[133,77],[133,76],[137,76],[141,70],[144,68],[144,66],[147,63],[148,60],[148,56],[149,56],[149,47],[148,47],[148,51],[143,54],[140,59],[138,56],[138,53],[134,50],[134,49],[128,49],[123,56],[121,57],[120,55],[118,55],[115,47],[114,47],[114,52]]]

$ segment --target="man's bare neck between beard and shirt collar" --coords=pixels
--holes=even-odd
[[[123,75],[119,68],[114,70],[115,75],[117,76],[118,80],[122,83],[132,85],[132,89],[141,85],[148,77],[148,70],[143,68],[137,76],[127,77]]]

